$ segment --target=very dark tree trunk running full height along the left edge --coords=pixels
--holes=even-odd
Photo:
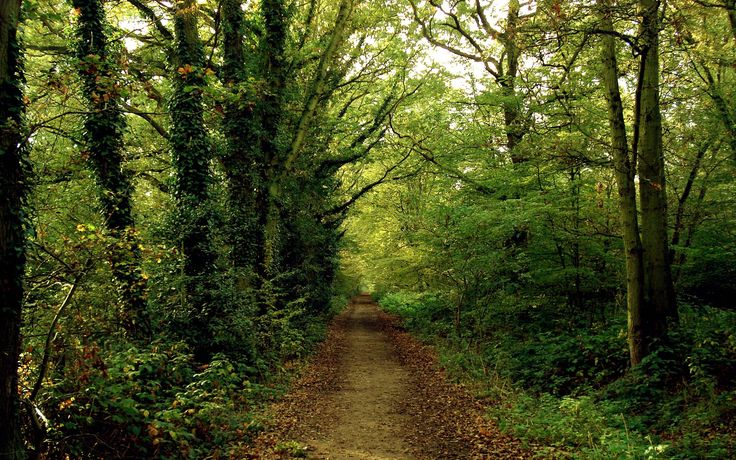
[[[25,267],[21,2],[0,2],[0,457],[26,458],[20,429],[18,357]]]

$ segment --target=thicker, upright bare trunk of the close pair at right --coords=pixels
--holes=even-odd
[[[662,115],[659,109],[659,1],[640,0],[639,139],[637,171],[641,204],[641,240],[645,271],[643,327],[645,339],[667,331],[667,320],[677,319],[677,304],[667,243],[667,193]]]

